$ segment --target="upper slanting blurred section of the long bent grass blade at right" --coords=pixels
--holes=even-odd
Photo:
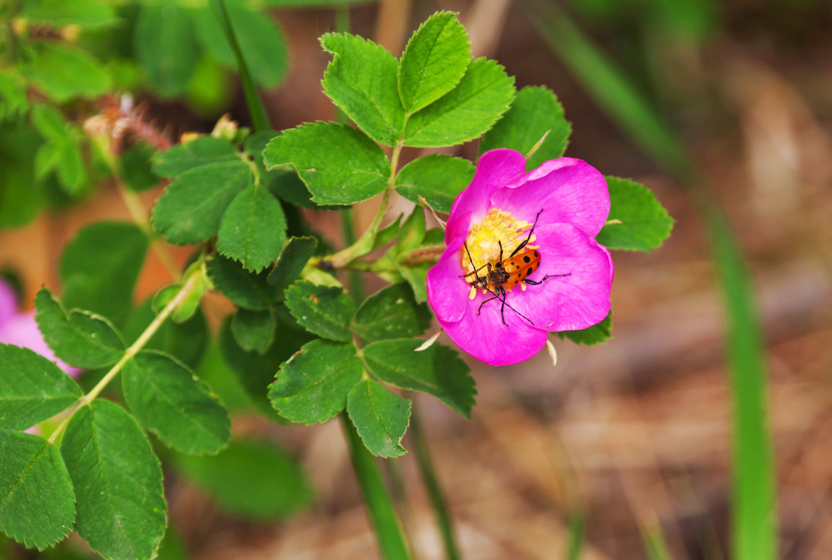
[[[530,19],[567,64],[572,74],[604,112],[631,135],[661,166],[676,175],[688,176],[691,165],[685,148],[650,102],[622,72],[590,41],[574,22],[546,0],[527,0]]]

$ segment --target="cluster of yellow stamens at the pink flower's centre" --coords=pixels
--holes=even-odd
[[[477,276],[483,278],[488,274],[487,263],[491,263],[492,269],[495,268],[501,260],[508,259],[518,245],[526,240],[528,235],[528,228],[532,226],[531,223],[523,220],[518,220],[511,215],[510,212],[492,208],[488,214],[483,218],[483,221],[471,226],[468,232],[468,238],[465,240],[465,247],[462,249],[462,264],[465,269],[465,280],[468,284],[472,284]],[[536,245],[531,245],[534,241],[534,234],[529,239],[529,245],[524,249],[537,249]],[[500,245],[503,245],[503,255],[500,255]],[[468,255],[470,253],[470,256]],[[474,270],[477,274],[474,275]],[[525,290],[526,286],[521,286]],[[483,293],[488,290],[483,290]],[[473,299],[476,295],[476,288],[471,286],[471,293],[469,297]]]

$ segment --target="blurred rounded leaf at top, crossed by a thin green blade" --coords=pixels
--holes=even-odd
[[[225,2],[231,27],[252,77],[265,87],[276,86],[289,67],[289,55],[283,32],[275,19],[257,12],[244,2]],[[237,69],[234,52],[225,32],[209,7],[194,12],[196,37],[210,56],[231,70]]]

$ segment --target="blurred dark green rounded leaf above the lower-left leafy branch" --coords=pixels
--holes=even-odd
[[[121,321],[130,310],[147,245],[136,225],[99,221],[84,226],[58,264],[64,304]]]

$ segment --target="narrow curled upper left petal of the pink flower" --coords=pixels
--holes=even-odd
[[[519,151],[499,148],[489,150],[479,156],[477,171],[473,180],[459,193],[451,206],[448,216],[448,227],[445,230],[445,243],[450,245],[450,232],[456,230],[456,222],[466,231],[470,229],[471,221],[483,219],[491,208],[490,199],[494,192],[503,186],[520,180],[526,171],[526,158]],[[470,213],[468,221],[465,215]]]

